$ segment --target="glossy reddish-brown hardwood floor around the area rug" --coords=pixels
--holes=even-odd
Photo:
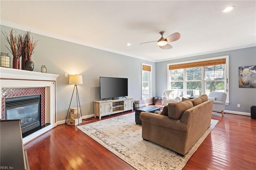
[[[227,113],[222,117],[216,112],[212,113],[212,119],[219,120],[218,124],[183,170],[255,170],[256,119]],[[83,120],[82,124],[95,121],[99,120]],[[24,149],[31,170],[134,169],[74,126],[59,125],[26,144]]]

